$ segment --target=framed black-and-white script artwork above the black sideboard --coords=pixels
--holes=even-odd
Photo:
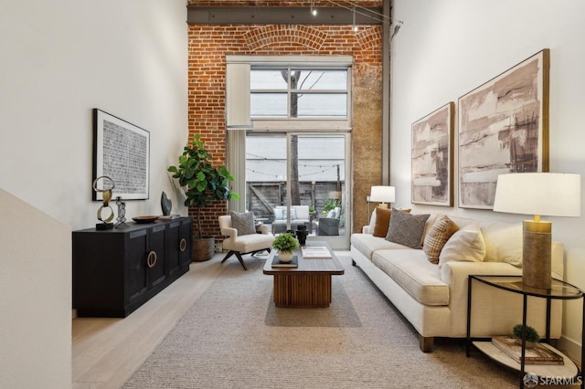
[[[149,195],[150,132],[93,109],[93,181],[112,178],[112,197],[145,200]],[[93,191],[101,201],[101,192]]]

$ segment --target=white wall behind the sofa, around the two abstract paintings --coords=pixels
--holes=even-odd
[[[582,0],[393,0],[404,22],[392,41],[390,181],[397,204],[410,205],[411,124],[493,79],[543,48],[550,49],[549,170],[583,174],[585,132],[585,2]],[[456,117],[456,113],[455,113]],[[456,122],[456,121],[455,121]],[[456,124],[455,124],[456,127]],[[455,145],[456,145],[455,128]],[[455,155],[456,157],[456,155]],[[520,221],[526,216],[457,209],[419,209]],[[581,189],[582,193],[585,193]],[[585,289],[585,214],[549,217],[553,239],[565,244],[566,280]],[[566,305],[562,345],[580,358],[580,301]]]

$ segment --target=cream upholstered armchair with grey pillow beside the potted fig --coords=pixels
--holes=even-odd
[[[244,270],[247,270],[242,255],[271,251],[274,236],[269,232],[268,226],[255,226],[253,214],[230,212],[230,215],[219,216],[218,221],[221,234],[226,237],[223,240],[223,248],[229,250],[221,263],[235,255]]]

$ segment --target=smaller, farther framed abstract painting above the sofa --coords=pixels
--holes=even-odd
[[[412,123],[411,201],[452,206],[454,104],[449,102]]]

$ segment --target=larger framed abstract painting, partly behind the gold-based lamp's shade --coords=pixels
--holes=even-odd
[[[492,209],[498,174],[548,172],[544,49],[459,98],[459,206]]]

